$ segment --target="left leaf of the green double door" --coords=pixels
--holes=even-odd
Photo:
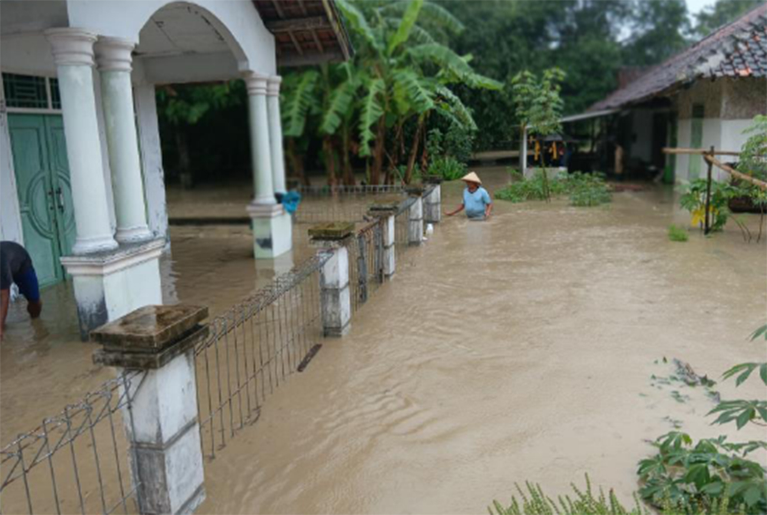
[[[61,253],[44,117],[9,114],[8,130],[24,243],[35,263],[41,286],[47,286],[60,281],[64,274],[59,262]]]

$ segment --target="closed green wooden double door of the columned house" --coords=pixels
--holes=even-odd
[[[64,279],[59,258],[71,253],[75,235],[61,116],[9,114],[8,130],[24,244],[48,286]]]

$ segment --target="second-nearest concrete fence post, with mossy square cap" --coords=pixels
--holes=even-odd
[[[351,328],[349,250],[354,223],[322,223],[309,229],[311,246],[330,255],[320,269],[320,302],[325,336],[341,337]]]

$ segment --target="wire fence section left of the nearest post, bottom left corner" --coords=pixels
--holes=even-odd
[[[125,372],[3,447],[0,513],[137,513],[125,451],[143,377]]]

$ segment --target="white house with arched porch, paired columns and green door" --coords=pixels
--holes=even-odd
[[[43,286],[71,275],[83,335],[161,302],[157,84],[245,80],[255,256],[291,248],[277,67],[348,58],[332,0],[3,0],[0,20],[0,238]]]

